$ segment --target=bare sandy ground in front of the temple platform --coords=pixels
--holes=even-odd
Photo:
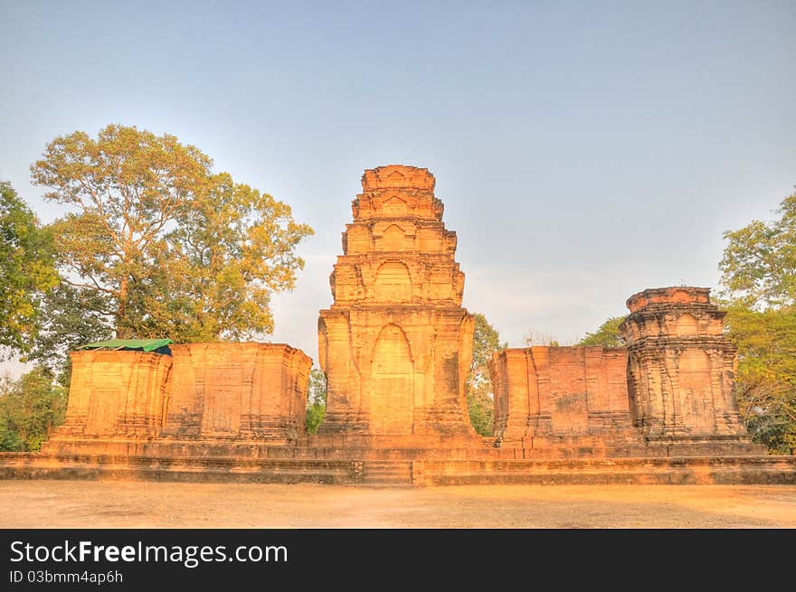
[[[796,528],[796,486],[0,481],[0,528]]]

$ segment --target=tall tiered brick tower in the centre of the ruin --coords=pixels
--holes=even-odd
[[[475,437],[464,383],[473,318],[461,307],[464,274],[427,169],[365,171],[320,311],[327,376],[319,434]]]

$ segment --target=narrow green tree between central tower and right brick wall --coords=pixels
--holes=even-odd
[[[489,378],[488,362],[494,352],[507,348],[507,343],[500,342],[500,334],[487,317],[476,313],[475,330],[473,332],[473,359],[465,393],[469,420],[476,432],[481,436],[491,436],[493,432],[494,392]]]

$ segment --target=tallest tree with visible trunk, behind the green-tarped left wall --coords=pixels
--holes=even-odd
[[[108,296],[118,337],[136,333],[130,303],[177,212],[204,191],[211,160],[175,136],[110,125],[97,139],[56,137],[31,166],[44,197],[77,209],[52,224],[66,279]]]

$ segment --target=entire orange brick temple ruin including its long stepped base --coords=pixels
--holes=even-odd
[[[0,454],[0,477],[796,483],[796,457],[767,456],[745,433],[707,288],[630,296],[626,347],[495,353],[495,435],[478,436],[464,390],[474,323],[434,184],[403,165],[362,177],[317,323],[317,434],[304,427],[312,362],[289,345],[79,351],[65,423],[39,454]]]

